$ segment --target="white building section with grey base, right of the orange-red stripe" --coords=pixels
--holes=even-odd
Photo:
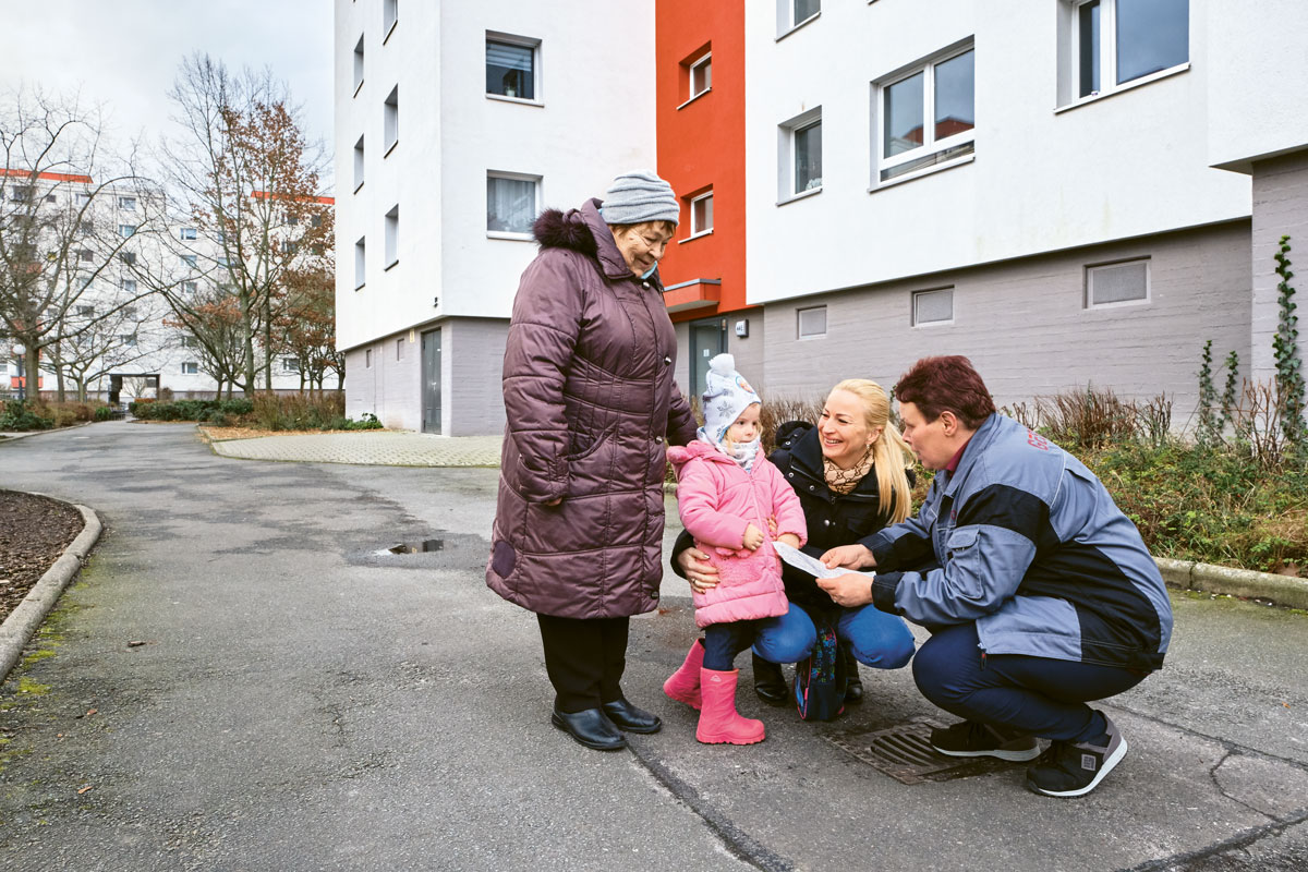
[[[1184,425],[1206,340],[1270,378],[1282,234],[1308,264],[1308,4],[802,5],[746,4],[768,390],[961,353],[1001,404],[1165,392]]]

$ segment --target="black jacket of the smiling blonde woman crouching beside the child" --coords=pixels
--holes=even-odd
[[[776,444],[768,460],[781,471],[799,495],[804,509],[804,522],[808,526],[808,543],[802,549],[806,554],[821,557],[829,549],[837,545],[853,545],[889,523],[889,516],[883,515],[880,510],[875,467],[850,493],[837,494],[827,486],[823,476],[818,428],[807,421],[787,421],[777,428]],[[908,471],[908,480],[912,485],[912,469]],[[693,544],[695,540],[683,531],[672,548],[672,570],[683,578],[676,557]],[[786,599],[799,604],[806,612],[840,609],[831,601],[831,596],[818,587],[812,575],[789,563],[782,565],[782,580],[786,584]]]

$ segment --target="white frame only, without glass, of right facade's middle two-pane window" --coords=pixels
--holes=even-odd
[[[875,144],[874,154],[876,157],[875,166],[872,167],[872,179],[869,186],[870,191],[882,188],[889,184],[896,184],[899,182],[908,182],[909,179],[921,178],[931,173],[939,173],[940,170],[947,170],[963,163],[971,163],[976,158],[976,122],[973,120],[973,127],[952,136],[946,136],[943,139],[935,139],[935,68],[943,63],[954,60],[955,58],[961,58],[969,51],[976,51],[976,46],[969,37],[961,43],[955,43],[948,48],[944,48],[934,55],[923,58],[922,60],[913,61],[908,67],[901,67],[888,76],[872,82],[872,141]],[[976,56],[972,59],[973,71],[976,69]],[[886,95],[887,92],[908,80],[913,76],[922,73],[922,144],[912,148],[906,152],[900,152],[899,154],[886,157]],[[973,78],[972,86],[972,109],[976,111],[976,80]],[[931,157],[934,154],[942,154],[950,152],[951,149],[964,149],[969,146],[971,149],[960,150],[957,154],[948,157],[939,163],[927,163],[926,166],[917,167],[914,170],[905,171],[900,175],[892,175],[883,179],[882,174],[893,170],[904,163],[912,163],[920,161],[925,157]]]

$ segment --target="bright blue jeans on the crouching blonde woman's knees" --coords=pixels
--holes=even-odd
[[[814,650],[818,629],[799,605],[781,617],[759,621],[753,651],[772,663],[797,663]],[[897,614],[887,614],[875,605],[840,611],[836,635],[849,645],[854,659],[874,669],[899,669],[913,658],[913,633]]]

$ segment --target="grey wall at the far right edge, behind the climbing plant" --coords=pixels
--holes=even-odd
[[[1290,237],[1291,271],[1308,276],[1308,152],[1290,154],[1253,165],[1253,301],[1252,353],[1253,377],[1262,380],[1275,375],[1271,339],[1277,331],[1277,263],[1273,256],[1281,237]],[[1298,264],[1298,269],[1295,269]],[[1308,332],[1308,284],[1291,280],[1300,318],[1299,356],[1304,358]]]

